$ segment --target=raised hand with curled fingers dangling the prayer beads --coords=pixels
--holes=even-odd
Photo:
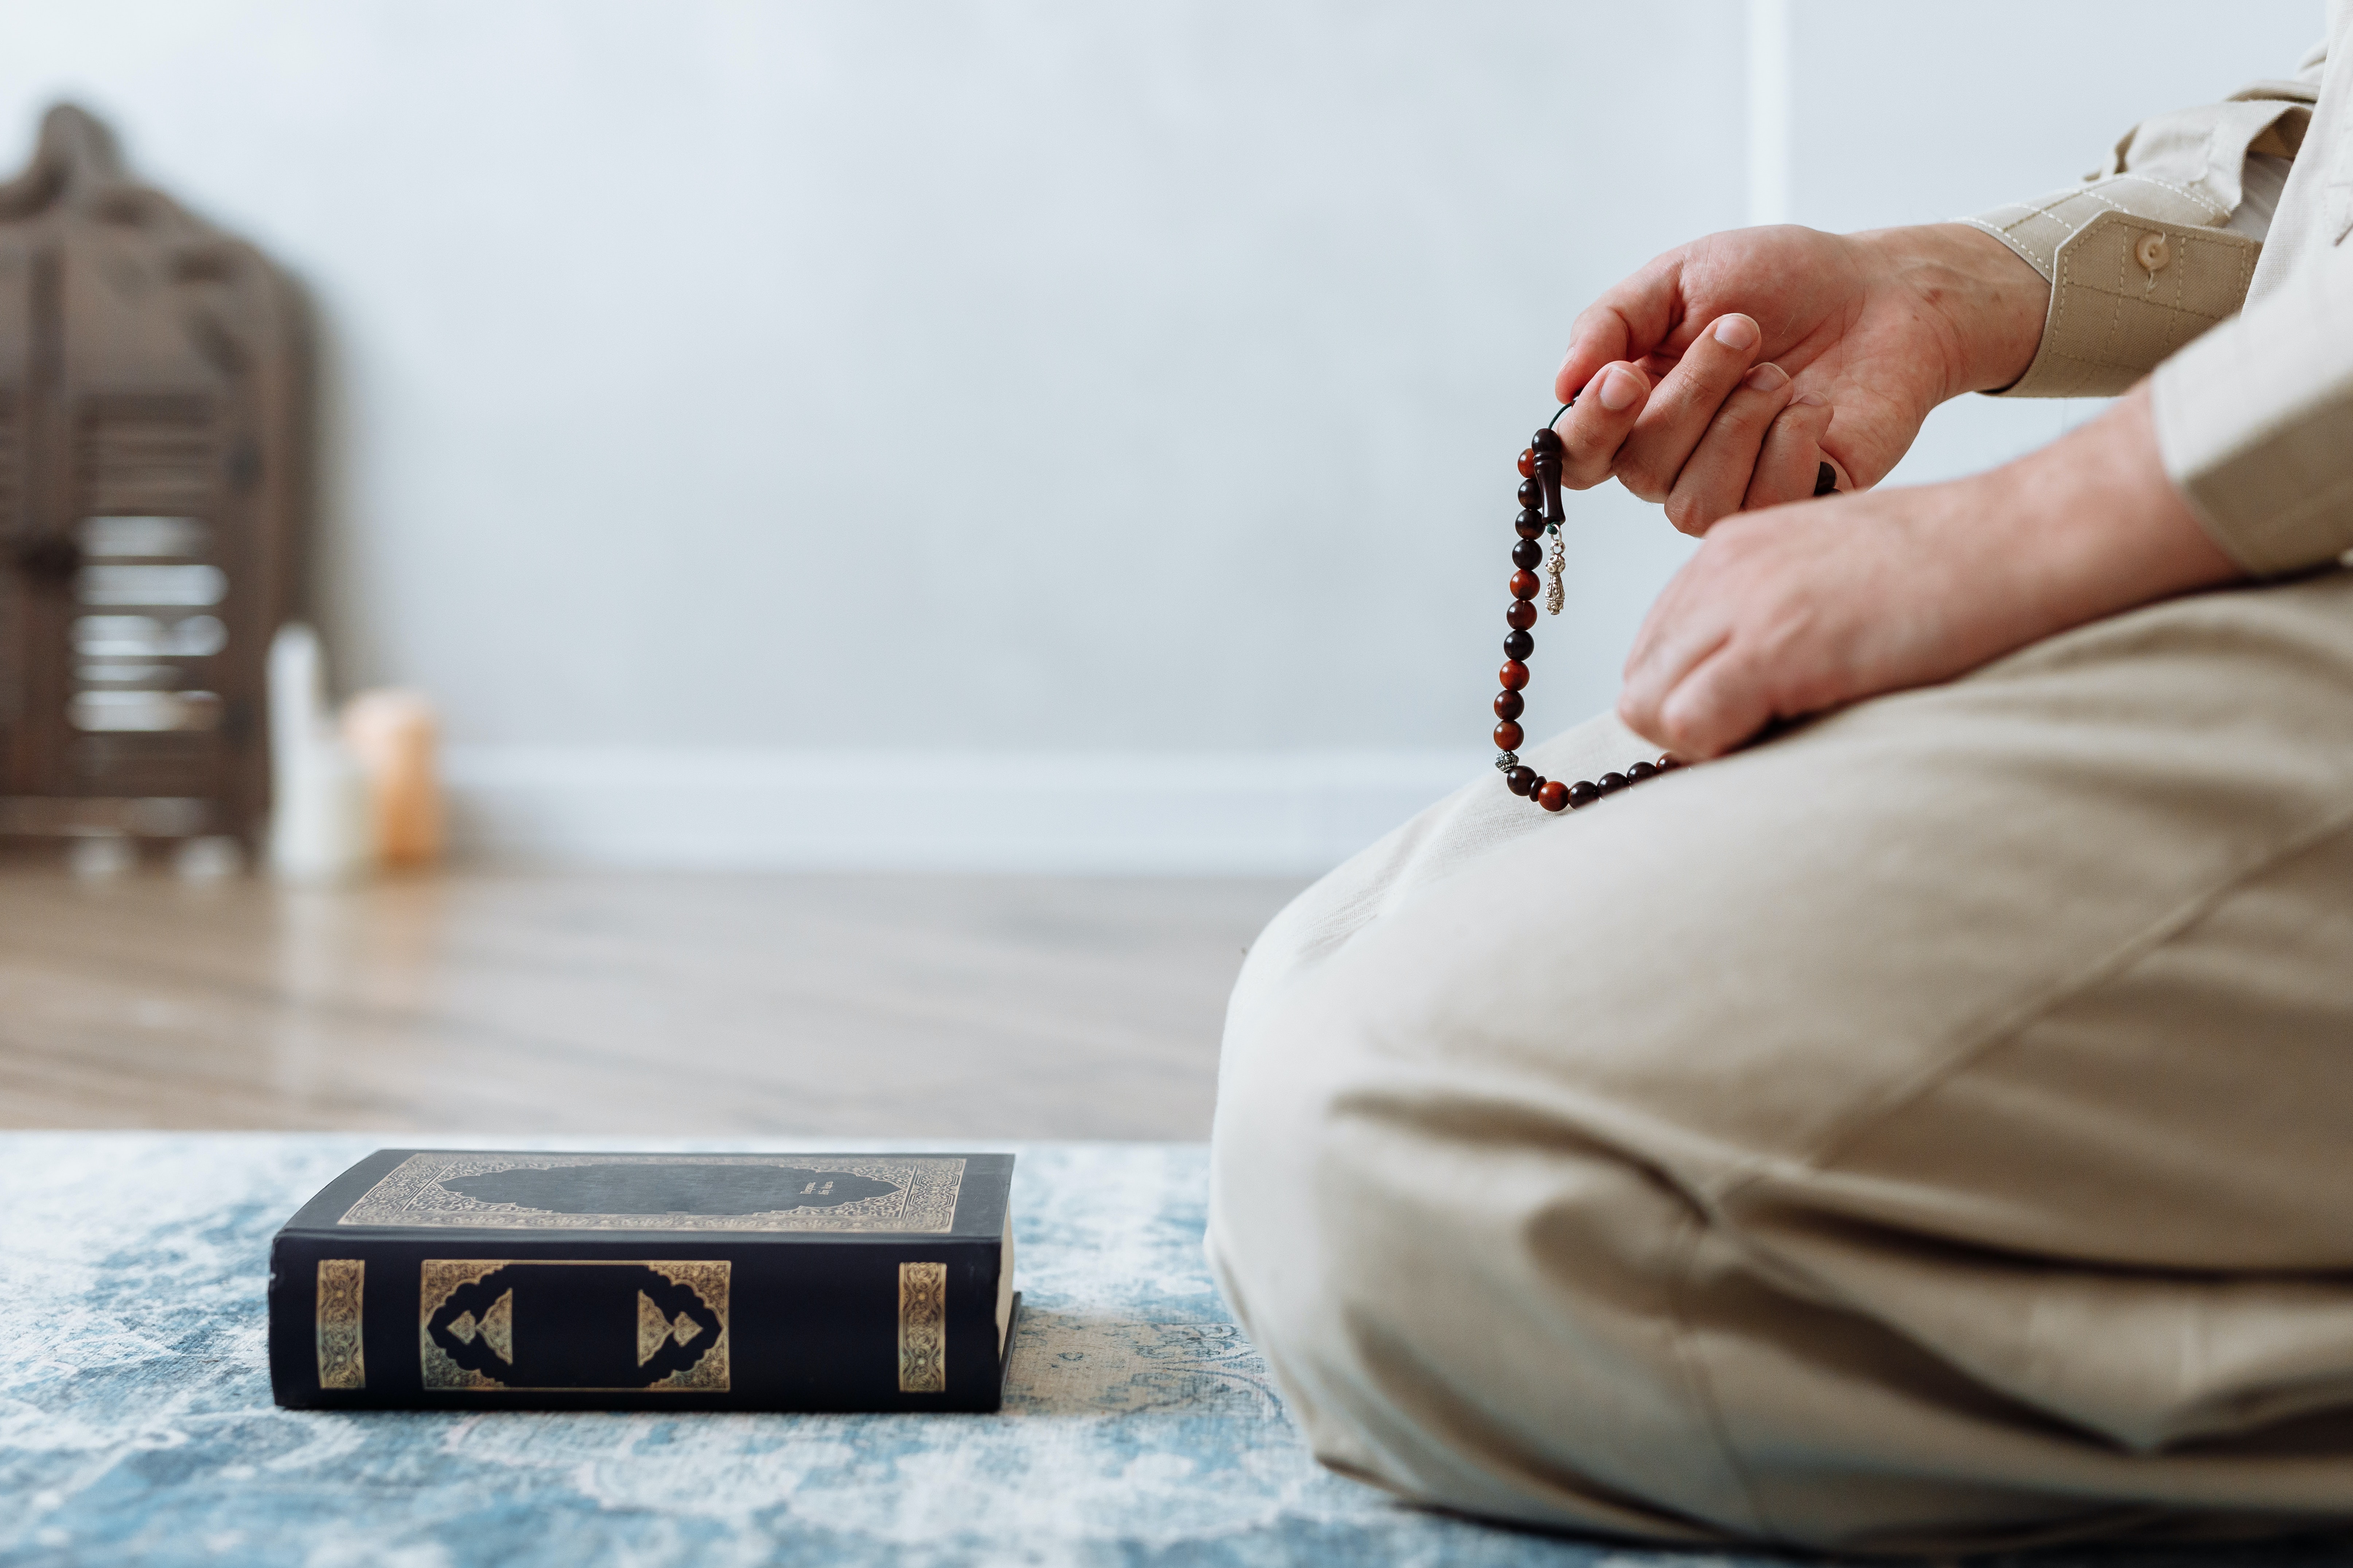
[[[2035,357],[2049,284],[1967,223],[1739,228],[1666,252],[1588,306],[1553,393],[1562,484],[1612,475],[1668,522],[1878,484],[1948,397]]]

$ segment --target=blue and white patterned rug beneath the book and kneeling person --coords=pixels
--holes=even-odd
[[[271,1232],[381,1143],[416,1140],[0,1135],[0,1563],[1784,1561],[1492,1530],[1320,1472],[1202,1269],[1205,1152],[1186,1145],[1021,1147],[1028,1309],[1002,1415],[278,1410]]]

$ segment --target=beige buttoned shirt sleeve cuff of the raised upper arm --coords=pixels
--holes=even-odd
[[[2111,397],[2238,315],[2320,66],[2144,120],[2080,186],[1965,219],[2052,284],[2042,348],[2000,395]]]

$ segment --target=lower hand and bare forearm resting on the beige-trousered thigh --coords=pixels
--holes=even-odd
[[[2144,383],[1969,480],[1720,522],[1635,635],[1619,717],[1697,762],[2235,576],[2165,477]]]

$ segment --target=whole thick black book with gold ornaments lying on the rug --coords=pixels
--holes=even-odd
[[[379,1150],[271,1244],[294,1408],[995,1410],[1012,1154]]]

